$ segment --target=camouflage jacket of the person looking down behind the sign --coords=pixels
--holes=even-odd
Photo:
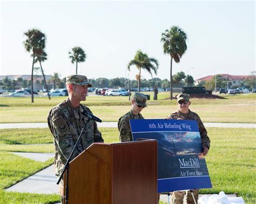
[[[132,141],[132,132],[129,119],[144,119],[144,117],[142,116],[142,114],[134,115],[132,110],[130,110],[125,115],[119,118],[118,130],[120,132],[119,140],[121,142]]]

